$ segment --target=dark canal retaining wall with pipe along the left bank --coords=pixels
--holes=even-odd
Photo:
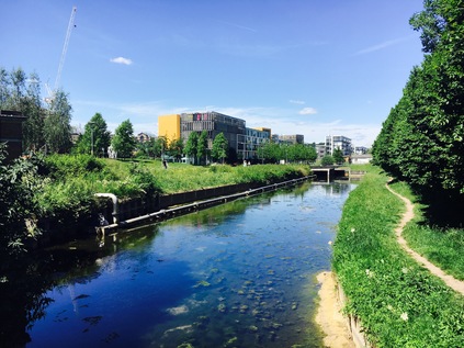
[[[25,248],[35,250],[67,243],[83,235],[126,228],[137,224],[161,221],[195,210],[222,204],[241,197],[275,190],[297,182],[313,180],[315,176],[299,177],[282,182],[259,186],[238,183],[173,194],[157,194],[121,200],[111,193],[97,193],[91,212],[81,214],[69,211],[63,216],[52,216],[38,221],[41,235],[30,238]],[[117,207],[117,212],[115,211]],[[76,215],[80,214],[79,218]],[[101,220],[102,217],[102,220]],[[106,223],[100,224],[101,221]]]

